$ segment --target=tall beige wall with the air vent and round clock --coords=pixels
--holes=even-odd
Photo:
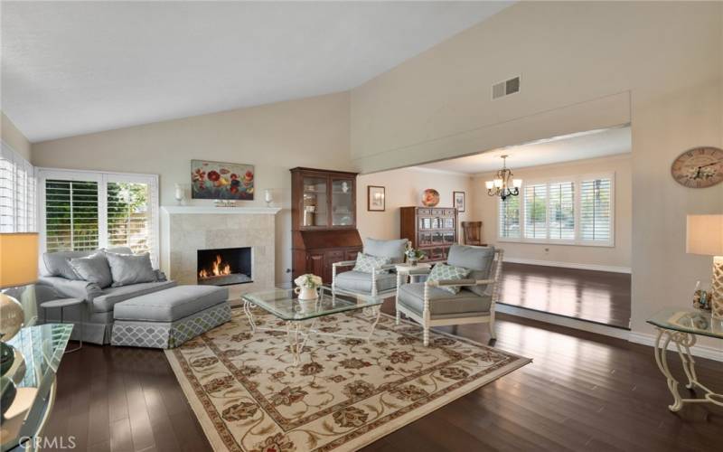
[[[670,165],[723,146],[721,55],[723,3],[521,2],[352,89],[352,158],[377,171],[632,121],[632,327],[651,333],[710,277],[685,215],[723,212],[723,184],[684,188]]]

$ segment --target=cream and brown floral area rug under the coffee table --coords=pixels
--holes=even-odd
[[[372,321],[328,315],[317,329],[360,334]],[[286,333],[252,334],[241,309],[165,353],[211,446],[249,452],[354,450],[531,362],[435,331],[425,347],[419,325],[382,314],[371,342],[313,336],[295,367]]]

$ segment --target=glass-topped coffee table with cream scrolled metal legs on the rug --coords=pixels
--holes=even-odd
[[[245,294],[241,297],[243,309],[251,331],[280,331],[286,333],[291,353],[294,355],[294,365],[300,361],[304,346],[312,335],[327,335],[362,339],[369,341],[374,329],[379,323],[381,315],[381,297],[371,297],[344,290],[332,290],[331,287],[320,287],[319,297],[314,300],[299,300],[291,288],[273,288],[260,292]],[[267,328],[258,326],[253,315],[253,306],[258,306],[269,314],[283,320],[285,328]],[[316,321],[326,315],[341,314],[349,311],[362,310],[371,316],[371,327],[365,335],[327,333],[315,329]]]

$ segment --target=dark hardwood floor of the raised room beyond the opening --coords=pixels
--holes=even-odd
[[[630,324],[629,274],[505,262],[502,303],[598,324]]]

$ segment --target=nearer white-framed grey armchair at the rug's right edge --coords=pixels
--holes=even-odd
[[[492,338],[494,308],[500,297],[502,278],[502,250],[493,247],[453,245],[446,263],[469,269],[465,279],[447,279],[397,287],[397,325],[401,314],[422,325],[424,345],[429,344],[429,328],[443,325],[487,323]],[[430,270],[415,270],[424,274]],[[460,287],[453,294],[440,287]]]

